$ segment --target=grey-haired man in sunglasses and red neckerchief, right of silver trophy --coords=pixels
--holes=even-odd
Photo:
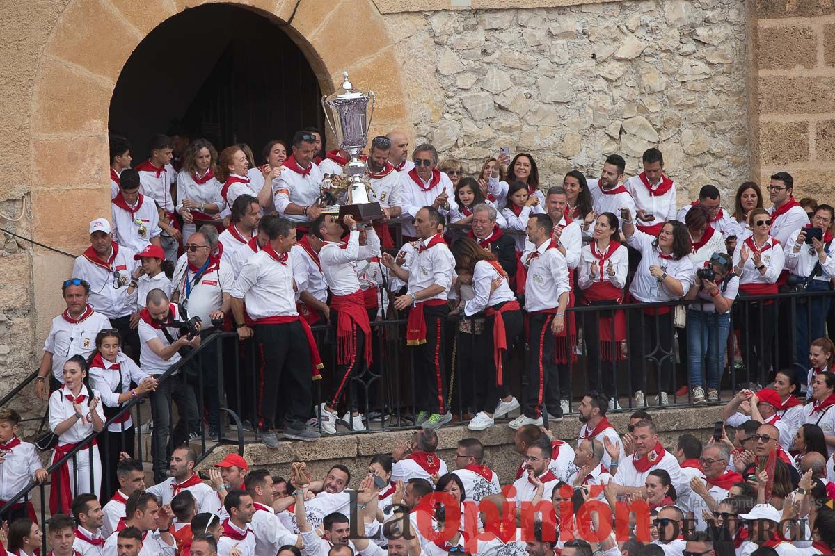
[[[438,151],[431,144],[423,143],[415,148],[412,160],[415,167],[402,175],[404,212],[416,218],[417,211],[431,206],[446,217],[449,210],[458,205],[453,183],[446,173],[436,168]],[[412,222],[403,223],[402,230],[405,241],[417,239],[418,233]]]

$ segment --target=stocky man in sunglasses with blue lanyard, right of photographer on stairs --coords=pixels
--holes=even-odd
[[[210,239],[204,233],[192,233],[185,243],[185,260],[174,271],[171,299],[180,303],[187,314],[183,318],[200,317],[200,338],[206,338],[220,327],[230,310],[230,292],[235,278],[228,265],[211,254]],[[209,410],[209,436],[220,434],[220,393],[218,389],[217,342],[203,349],[190,364],[192,388],[200,389],[198,373],[203,373],[203,396]]]

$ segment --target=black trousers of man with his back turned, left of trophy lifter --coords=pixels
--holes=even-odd
[[[301,323],[256,324],[255,339],[261,354],[260,427],[276,428],[282,417],[288,425],[304,427],[313,402],[311,356]]]

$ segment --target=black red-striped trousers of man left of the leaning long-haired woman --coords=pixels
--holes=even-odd
[[[448,313],[446,304],[424,306],[426,343],[412,348],[417,408],[429,413],[447,413],[447,364],[443,331]]]

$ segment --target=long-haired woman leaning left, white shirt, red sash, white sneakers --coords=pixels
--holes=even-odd
[[[467,295],[463,303],[464,318],[479,313],[485,317],[483,332],[474,334],[473,330],[471,338],[464,338],[459,346],[466,350],[463,344],[469,343],[467,348],[473,362],[480,359],[482,363],[461,365],[460,368],[472,369],[474,375],[472,381],[467,378],[461,381],[462,388],[474,388],[475,391],[474,405],[478,413],[468,428],[483,430],[493,426],[497,413],[501,416],[519,407],[504,373],[514,340],[522,333],[522,310],[510,289],[507,273],[493,253],[478,247],[471,238],[461,238],[453,243],[453,256],[458,283],[472,288],[472,295]]]

